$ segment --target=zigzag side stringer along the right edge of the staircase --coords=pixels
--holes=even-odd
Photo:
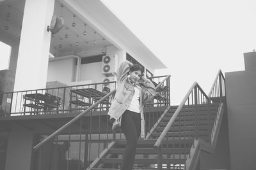
[[[216,115],[215,123],[212,127],[211,133],[211,143],[205,142],[203,139],[194,139],[194,144],[190,149],[190,157],[186,160],[185,170],[196,170],[198,162],[200,160],[201,151],[214,153],[216,148],[216,143],[218,141],[218,134],[220,132],[220,125],[222,122],[223,113],[225,111],[225,105],[220,103],[219,110]]]

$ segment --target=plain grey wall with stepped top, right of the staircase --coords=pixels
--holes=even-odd
[[[245,71],[225,73],[232,170],[255,169],[256,53],[244,53]]]

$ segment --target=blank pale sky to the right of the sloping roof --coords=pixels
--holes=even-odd
[[[256,48],[254,0],[102,0],[159,58],[170,74],[171,104],[194,81],[209,93],[218,70],[244,70]]]

